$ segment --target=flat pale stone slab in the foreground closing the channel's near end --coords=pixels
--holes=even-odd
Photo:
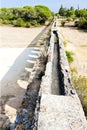
[[[42,95],[38,130],[87,130],[78,96]]]

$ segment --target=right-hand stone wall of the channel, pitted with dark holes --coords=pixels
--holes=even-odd
[[[74,89],[71,82],[71,76],[70,76],[70,68],[68,64],[68,60],[65,54],[64,45],[62,43],[62,40],[60,38],[60,34],[57,31],[57,36],[59,39],[59,53],[60,53],[60,73],[61,73],[61,79],[63,82],[64,87],[64,94],[74,94]]]

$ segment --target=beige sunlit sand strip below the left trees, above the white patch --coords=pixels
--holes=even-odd
[[[43,29],[0,26],[0,48],[25,48]]]

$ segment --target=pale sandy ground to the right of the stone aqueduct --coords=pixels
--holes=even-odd
[[[73,53],[74,62],[71,67],[76,68],[79,75],[87,77],[87,32],[72,27],[72,22],[61,26],[58,20],[58,30],[63,42],[66,42],[66,50]]]

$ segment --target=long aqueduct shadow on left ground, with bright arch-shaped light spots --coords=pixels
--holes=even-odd
[[[45,30],[46,28],[31,42],[34,47],[29,45],[24,49],[1,80],[1,114],[5,114],[12,123],[21,105],[34,63],[40,55],[40,47],[35,47],[35,43]]]

